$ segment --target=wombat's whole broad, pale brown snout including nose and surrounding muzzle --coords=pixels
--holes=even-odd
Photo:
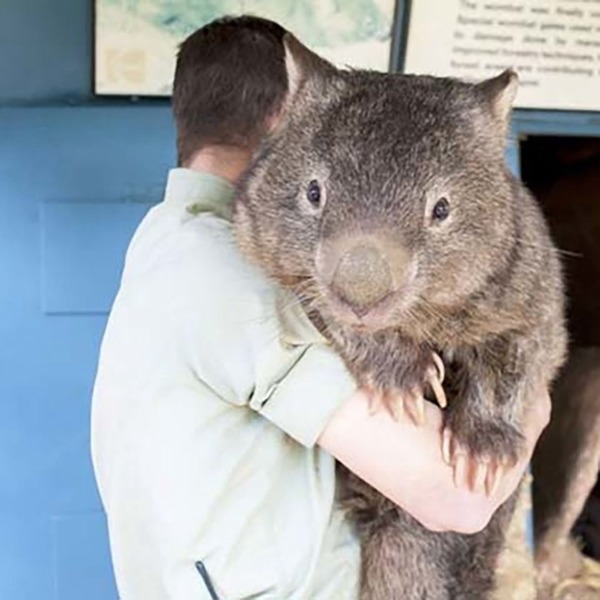
[[[399,245],[376,237],[328,244],[319,258],[331,291],[358,317],[401,287],[408,264]]]

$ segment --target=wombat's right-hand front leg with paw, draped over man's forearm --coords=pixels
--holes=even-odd
[[[522,418],[533,388],[526,354],[518,342],[500,338],[456,353],[442,442],[456,485],[493,494],[521,456]]]

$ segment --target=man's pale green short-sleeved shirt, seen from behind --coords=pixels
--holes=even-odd
[[[92,453],[122,600],[355,600],[359,545],[315,446],[354,389],[235,246],[233,189],[174,169],[127,253]]]

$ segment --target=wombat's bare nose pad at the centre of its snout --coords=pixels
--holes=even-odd
[[[359,317],[383,300],[393,287],[387,261],[371,245],[357,245],[344,253],[331,283]]]

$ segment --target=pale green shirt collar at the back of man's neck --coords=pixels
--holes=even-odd
[[[171,169],[165,202],[183,204],[191,214],[211,212],[231,220],[235,187],[226,179],[192,169]]]

